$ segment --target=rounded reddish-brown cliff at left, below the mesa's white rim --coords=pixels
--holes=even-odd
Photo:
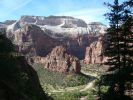
[[[35,25],[25,25],[13,33],[7,33],[7,37],[19,52],[29,56],[46,56],[59,43]]]

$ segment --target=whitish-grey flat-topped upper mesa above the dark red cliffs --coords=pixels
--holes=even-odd
[[[87,24],[81,19],[69,16],[22,16],[14,24],[7,27],[8,31],[16,31],[26,24],[34,24],[46,31],[49,36],[59,38],[65,36],[78,36],[80,34],[104,34],[106,26],[99,22]]]

